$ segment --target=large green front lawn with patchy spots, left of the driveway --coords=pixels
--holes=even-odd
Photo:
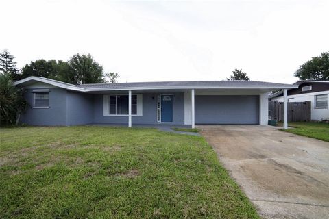
[[[259,218],[199,136],[3,128],[0,218]]]

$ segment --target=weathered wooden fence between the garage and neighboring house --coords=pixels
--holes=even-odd
[[[283,121],[283,103],[269,101],[269,116],[272,120]],[[288,103],[288,122],[310,121],[310,101]]]

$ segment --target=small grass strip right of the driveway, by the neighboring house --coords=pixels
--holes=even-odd
[[[289,127],[294,127],[295,129],[281,130],[329,142],[329,123],[300,122],[288,123],[288,125]]]

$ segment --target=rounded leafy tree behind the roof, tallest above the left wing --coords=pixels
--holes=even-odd
[[[88,55],[73,55],[68,62],[73,81],[71,83],[103,83],[103,67]]]

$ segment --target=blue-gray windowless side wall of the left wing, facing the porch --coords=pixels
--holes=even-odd
[[[93,95],[79,92],[66,93],[66,125],[93,123]]]

